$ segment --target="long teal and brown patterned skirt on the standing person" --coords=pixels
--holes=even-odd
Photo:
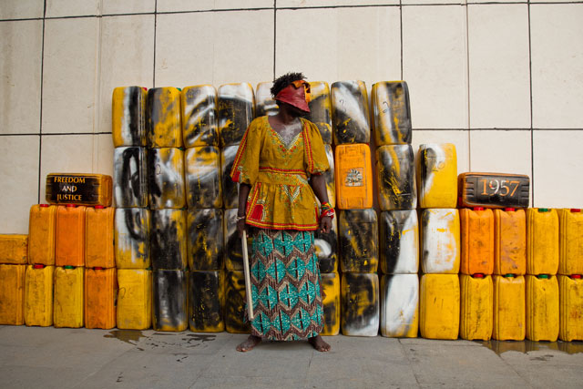
[[[293,341],[322,332],[320,269],[313,232],[255,230],[251,254],[251,334]]]

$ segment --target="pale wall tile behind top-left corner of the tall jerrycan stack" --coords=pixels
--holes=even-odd
[[[186,50],[182,47],[183,50]],[[152,87],[154,15],[101,19],[98,131],[111,131],[111,95],[115,87]]]

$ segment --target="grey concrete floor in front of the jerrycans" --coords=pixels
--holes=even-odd
[[[0,326],[2,388],[582,387],[583,343],[325,338]]]

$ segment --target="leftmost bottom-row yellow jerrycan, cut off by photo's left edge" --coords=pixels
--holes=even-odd
[[[0,264],[0,324],[25,323],[26,265]]]

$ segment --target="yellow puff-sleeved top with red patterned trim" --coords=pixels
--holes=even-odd
[[[316,230],[318,203],[308,183],[330,169],[322,136],[310,121],[286,145],[266,116],[251,122],[230,170],[235,182],[251,185],[245,210],[251,226],[271,230]]]

